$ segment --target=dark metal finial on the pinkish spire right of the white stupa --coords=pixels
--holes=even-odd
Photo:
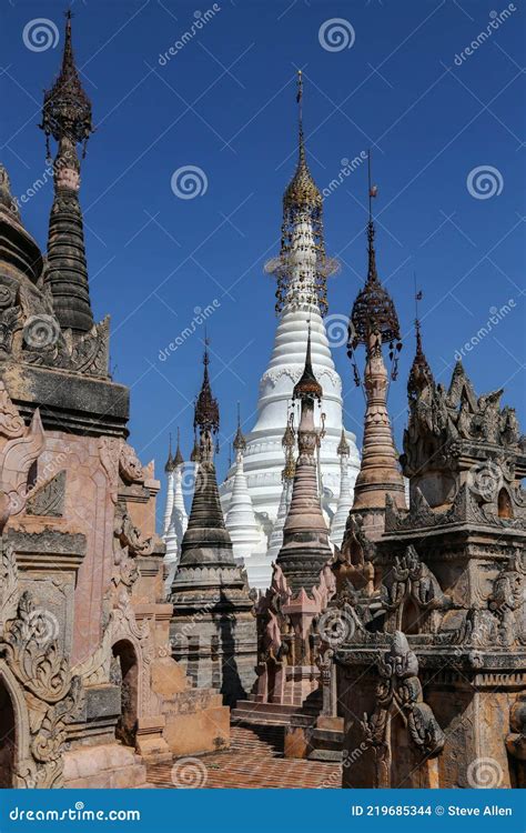
[[[347,353],[352,358],[358,344],[367,348],[374,335],[380,344],[390,344],[391,357],[402,349],[396,309],[388,292],[382,285],[376,271],[374,248],[375,228],[372,201],[378,189],[371,182],[371,151],[368,153],[368,222],[367,222],[367,280],[354,302],[348,324]]]

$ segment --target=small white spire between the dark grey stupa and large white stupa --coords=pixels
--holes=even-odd
[[[241,430],[239,405],[237,431],[234,436],[233,446],[235,450],[234,486],[232,489],[232,500],[225,523],[232,539],[235,558],[249,559],[255,550],[262,549],[262,532],[255,520],[254,509],[246,485],[246,475],[243,470],[243,454],[246,449],[246,440]]]

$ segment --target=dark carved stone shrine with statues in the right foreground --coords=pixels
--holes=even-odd
[[[362,539],[380,589],[336,596],[354,623],[336,653],[344,786],[526,784],[526,443],[500,395],[477,398],[459,363],[436,384],[417,325],[411,509],[387,495],[383,536]]]

